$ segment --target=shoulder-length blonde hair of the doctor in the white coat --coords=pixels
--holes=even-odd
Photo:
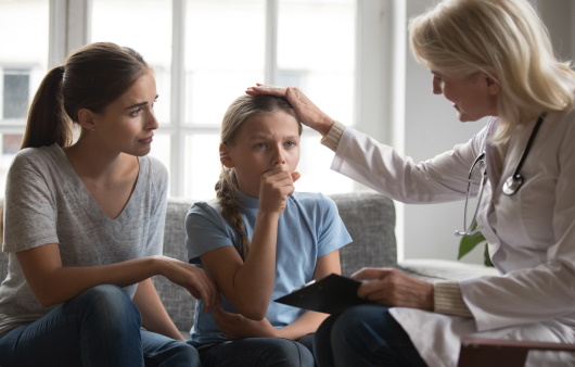
[[[575,72],[559,61],[526,0],[445,0],[409,22],[416,60],[447,75],[483,72],[498,81],[495,142],[544,111],[574,102]]]

